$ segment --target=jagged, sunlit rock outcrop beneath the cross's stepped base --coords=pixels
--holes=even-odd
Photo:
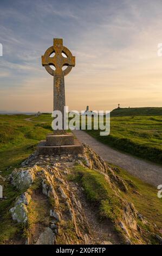
[[[26,225],[26,243],[96,243],[85,215],[85,196],[80,200],[80,195],[84,194],[83,188],[68,180],[76,164],[103,174],[105,182],[120,200],[120,216],[113,222],[120,234],[120,242],[145,243],[138,225],[141,215],[132,203],[120,196],[119,192],[127,193],[128,188],[125,180],[119,176],[118,168],[108,166],[92,148],[87,144],[83,145],[84,153],[76,156],[43,156],[35,153],[10,175],[11,184],[20,191],[10,212],[13,220]],[[28,217],[29,212],[35,215],[35,197],[45,197],[48,201],[46,220],[44,218],[41,223]],[[36,215],[41,214],[37,210]],[[142,221],[145,222],[143,216]],[[111,244],[111,241],[99,239],[97,243]]]

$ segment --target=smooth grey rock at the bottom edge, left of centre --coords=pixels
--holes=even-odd
[[[49,227],[45,228],[44,231],[41,233],[40,237],[38,238],[36,245],[54,245],[55,243],[55,234],[53,230]]]

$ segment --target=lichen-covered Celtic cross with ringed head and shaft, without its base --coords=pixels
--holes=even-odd
[[[50,57],[54,53],[53,57]],[[66,56],[64,57],[63,54]],[[75,66],[75,57],[72,53],[63,46],[63,40],[54,38],[53,46],[50,46],[42,56],[42,65],[47,72],[54,77],[54,105],[53,110],[59,110],[62,113],[62,125],[63,130],[58,133],[66,133],[64,130],[64,106],[65,92],[64,92],[64,76],[68,75]],[[51,69],[50,65],[55,67],[55,70]],[[62,70],[63,66],[67,66],[65,70]]]

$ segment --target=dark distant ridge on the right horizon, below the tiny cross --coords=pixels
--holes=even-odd
[[[162,115],[162,107],[115,108],[111,111],[111,117],[125,115]]]

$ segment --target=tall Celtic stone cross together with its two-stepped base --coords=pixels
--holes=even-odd
[[[51,55],[54,54],[53,57]],[[83,153],[83,145],[77,139],[74,139],[73,133],[67,133],[64,127],[64,76],[68,75],[75,66],[75,57],[63,46],[62,39],[54,39],[53,46],[50,46],[42,56],[42,65],[47,72],[54,77],[54,111],[62,113],[62,130],[55,130],[54,133],[47,135],[46,141],[41,141],[38,144],[39,154],[79,154]],[[55,70],[51,69],[51,65]],[[67,66],[63,70],[63,66]]]

